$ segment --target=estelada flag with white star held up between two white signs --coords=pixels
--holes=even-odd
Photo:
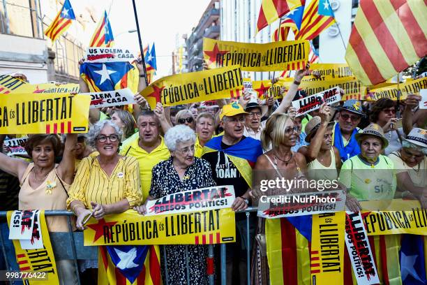
[[[90,92],[112,91],[129,88],[137,92],[140,73],[128,62],[84,62],[80,66],[80,76],[89,86]]]

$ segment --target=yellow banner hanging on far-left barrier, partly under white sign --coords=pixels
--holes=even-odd
[[[8,211],[8,224],[12,220],[13,211]],[[28,272],[25,284],[52,284],[59,285],[57,264],[50,243],[49,232],[47,231],[45,211],[40,211],[38,224],[41,226],[41,236],[43,237],[43,249],[22,249],[20,240],[13,240],[15,247],[16,261],[20,267],[20,272]],[[37,230],[37,229],[36,229]],[[33,232],[36,232],[33,229]],[[27,283],[28,282],[28,283]]]

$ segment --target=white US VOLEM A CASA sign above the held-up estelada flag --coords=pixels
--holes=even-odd
[[[88,47],[86,60],[89,62],[117,62],[132,61],[135,59],[133,52],[119,47]]]

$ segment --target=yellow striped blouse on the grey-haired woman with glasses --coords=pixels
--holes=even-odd
[[[117,203],[124,198],[130,207],[141,205],[142,193],[138,161],[134,157],[121,157],[110,177],[100,167],[96,157],[85,157],[80,162],[70,191],[67,207],[80,200],[91,209],[91,202]]]

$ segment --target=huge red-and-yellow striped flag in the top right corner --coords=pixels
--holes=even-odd
[[[361,0],[345,60],[364,85],[384,82],[427,54],[421,0]]]

